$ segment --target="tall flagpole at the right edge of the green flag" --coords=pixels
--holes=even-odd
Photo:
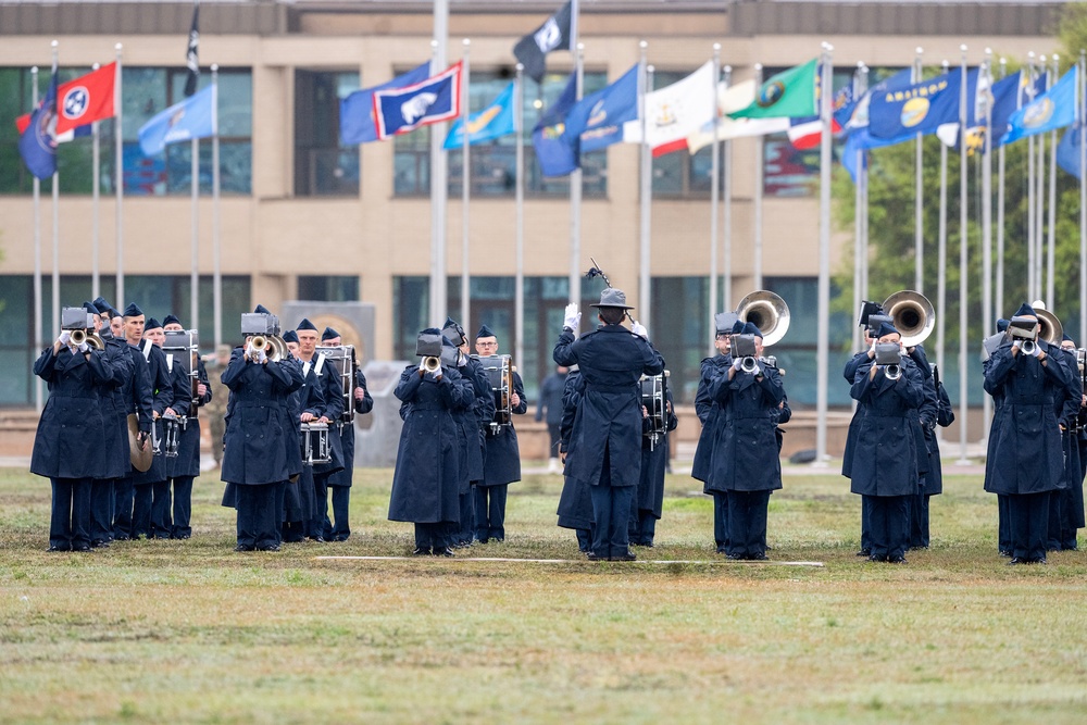
[[[830,53],[834,46],[823,43],[821,73],[823,89],[834,80]],[[820,93],[820,117],[823,135],[820,139],[820,225],[819,225],[819,323],[815,384],[815,466],[826,466],[827,373],[830,355],[830,93]],[[760,161],[761,163],[761,161]]]

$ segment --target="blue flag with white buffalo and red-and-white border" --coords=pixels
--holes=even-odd
[[[463,67],[458,62],[414,85],[374,91],[377,138],[384,140],[459,116]]]

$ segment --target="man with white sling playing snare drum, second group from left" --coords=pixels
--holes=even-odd
[[[325,357],[316,353],[317,328],[302,320],[295,328],[298,335],[298,359],[302,363],[302,423],[324,423],[335,429],[335,422],[343,413],[343,385],[334,366],[325,365]],[[332,433],[332,430],[329,430]],[[309,536],[314,541],[325,541],[325,520],[328,516],[328,477],[343,468],[343,449],[339,436],[328,437],[332,460],[313,464],[313,495],[316,507],[310,521]]]

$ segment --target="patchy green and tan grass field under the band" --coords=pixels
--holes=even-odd
[[[222,485],[193,538],[47,553],[49,485],[0,471],[0,722],[1083,723],[1087,552],[1005,566],[976,476],[934,499],[933,548],[861,561],[834,475],[773,496],[772,559],[713,553],[711,504],[670,476],[658,546],[590,563],[558,476],[511,487],[507,541],[400,555],[389,471],[359,471],[351,540],[235,553]]]

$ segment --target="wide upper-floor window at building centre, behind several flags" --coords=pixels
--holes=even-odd
[[[539,162],[532,143],[532,130],[539,121],[544,109],[558,100],[566,86],[567,76],[550,74],[544,78],[542,87],[532,78],[524,80],[524,149],[525,149],[525,193],[535,197],[564,197],[570,195],[567,177],[545,178],[540,175]],[[487,107],[510,83],[509,75],[501,73],[473,72],[470,88],[472,112]],[[585,74],[585,93],[591,93],[607,85],[604,73]],[[430,192],[430,133],[433,126],[425,126],[395,140],[395,191],[402,197],[425,197]],[[445,132],[442,132],[445,133]],[[462,193],[461,149],[449,151],[449,195]],[[513,197],[516,193],[516,139],[503,136],[477,143],[468,151],[471,163],[471,195],[473,197]],[[586,198],[602,198],[608,192],[608,153],[598,151],[582,158],[582,189]]]

